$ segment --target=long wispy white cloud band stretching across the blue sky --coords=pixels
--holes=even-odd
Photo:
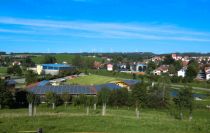
[[[84,38],[145,39],[210,42],[210,33],[171,25],[56,21],[20,18],[0,18],[0,24],[15,25],[0,32],[44,34]],[[24,27],[24,28],[23,28]]]

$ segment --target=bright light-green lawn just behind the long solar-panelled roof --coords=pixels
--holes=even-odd
[[[116,80],[120,80],[120,78],[99,76],[99,75],[88,75],[68,80],[66,84],[97,85],[97,84],[109,83]]]

